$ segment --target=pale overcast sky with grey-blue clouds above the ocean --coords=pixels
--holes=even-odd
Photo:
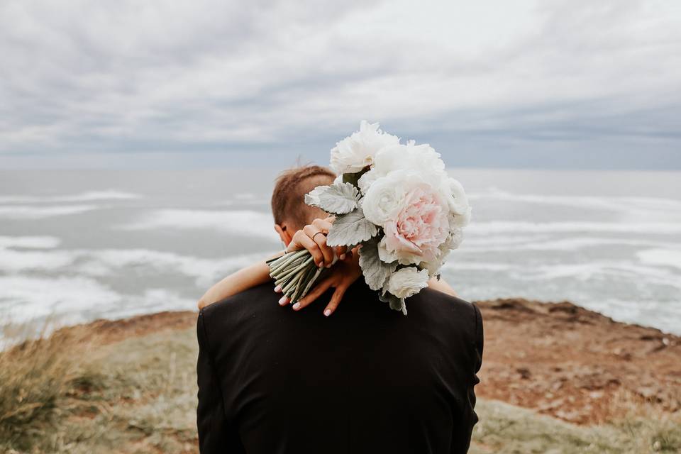
[[[681,170],[681,1],[0,1],[0,167]]]

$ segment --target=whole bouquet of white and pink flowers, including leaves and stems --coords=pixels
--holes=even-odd
[[[365,282],[382,301],[406,314],[404,299],[428,285],[450,250],[458,248],[470,206],[430,145],[384,133],[362,121],[360,131],[331,150],[338,178],[305,196],[336,216],[326,243],[358,248]],[[291,301],[309,291],[326,268],[307,250],[270,260],[270,276]]]

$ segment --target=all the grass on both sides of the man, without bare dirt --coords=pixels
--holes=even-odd
[[[0,452],[195,453],[194,328],[104,343],[72,330],[0,354]],[[575,426],[480,399],[472,453],[681,452],[681,417]]]

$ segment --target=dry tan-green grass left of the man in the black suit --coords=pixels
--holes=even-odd
[[[195,453],[196,353],[193,329],[0,353],[0,452]]]

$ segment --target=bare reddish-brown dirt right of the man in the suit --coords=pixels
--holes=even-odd
[[[681,338],[569,302],[478,301],[485,354],[477,393],[574,423],[649,402],[681,410]]]

